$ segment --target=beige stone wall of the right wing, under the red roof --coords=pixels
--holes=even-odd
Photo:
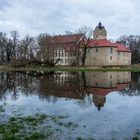
[[[115,47],[95,47],[87,49],[85,66],[131,65],[131,52],[120,52]]]

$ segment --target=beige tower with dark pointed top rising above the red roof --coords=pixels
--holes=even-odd
[[[101,22],[99,22],[98,26],[96,26],[95,30],[93,31],[93,38],[96,40],[107,38],[107,31],[105,27],[102,26]]]

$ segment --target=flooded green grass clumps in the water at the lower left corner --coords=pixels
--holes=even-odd
[[[78,124],[67,121],[67,118],[68,116],[54,116],[48,114],[13,116],[9,118],[7,123],[0,123],[0,139],[59,139],[64,133],[64,130],[73,132],[78,127]]]

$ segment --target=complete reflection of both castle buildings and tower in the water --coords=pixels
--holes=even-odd
[[[60,72],[40,79],[43,95],[56,98],[84,100],[92,95],[92,102],[100,110],[106,102],[106,95],[112,91],[120,91],[131,82],[130,72]],[[44,98],[44,97],[43,97]]]

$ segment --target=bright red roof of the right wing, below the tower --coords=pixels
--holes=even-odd
[[[89,41],[88,46],[89,47],[116,47],[117,51],[131,52],[131,50],[129,50],[126,46],[118,44],[118,43],[112,43],[111,41],[107,39],[100,39],[100,40],[92,39]]]

